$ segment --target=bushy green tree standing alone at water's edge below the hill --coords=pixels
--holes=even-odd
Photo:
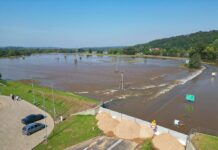
[[[198,69],[201,67],[201,55],[199,53],[193,53],[190,55],[189,67]]]

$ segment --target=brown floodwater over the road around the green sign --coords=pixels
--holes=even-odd
[[[108,107],[147,121],[155,119],[158,124],[179,132],[188,134],[191,129],[197,129],[218,135],[218,77],[212,77],[211,72],[218,72],[218,67],[206,65],[198,77],[150,102],[146,102],[144,97],[137,97],[135,100],[111,102]],[[185,101],[186,94],[195,95],[195,102]],[[183,122],[184,126],[175,126],[175,119]]]

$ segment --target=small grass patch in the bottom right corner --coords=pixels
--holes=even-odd
[[[218,137],[197,134],[192,138],[192,143],[197,150],[218,150]]]

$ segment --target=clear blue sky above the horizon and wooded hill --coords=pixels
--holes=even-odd
[[[0,46],[129,46],[218,30],[218,0],[0,0]]]

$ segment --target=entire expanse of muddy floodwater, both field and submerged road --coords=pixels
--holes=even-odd
[[[100,101],[114,100],[110,109],[187,133],[204,127],[218,131],[217,77],[207,69],[195,79],[155,97],[193,71],[181,67],[183,60],[135,57],[43,54],[23,58],[0,59],[4,79],[37,80],[41,85],[71,91]],[[123,90],[122,77],[123,73]],[[187,103],[184,95],[195,94],[196,102]],[[208,117],[213,116],[213,117]],[[184,122],[182,128],[172,125]]]

